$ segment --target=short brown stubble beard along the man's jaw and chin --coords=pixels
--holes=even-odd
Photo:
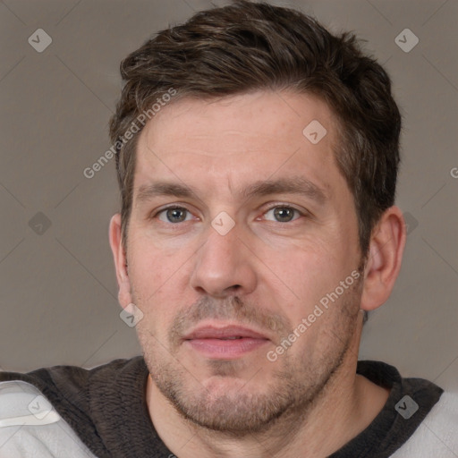
[[[267,366],[266,380],[270,380],[262,392],[257,392],[253,383],[250,386],[250,380],[236,380],[241,383],[234,382],[233,385],[228,383],[228,377],[236,377],[238,373],[238,360],[208,361],[208,372],[214,377],[204,386],[197,380],[197,375],[192,375],[176,358],[179,344],[174,333],[169,333],[167,352],[162,344],[158,344],[146,325],[147,319],[144,319],[137,325],[137,332],[153,383],[182,418],[199,427],[234,437],[268,432],[279,422],[288,424],[291,430],[292,425],[300,424],[299,420],[306,420],[314,403],[332,383],[350,349],[359,309],[355,304],[360,303],[359,288],[356,284],[353,286],[339,303],[332,305],[339,311],[333,310],[332,321],[327,320],[327,329],[321,326],[321,335],[327,336],[327,342],[311,352],[305,350],[304,354],[294,354],[291,349],[286,351],[276,361],[281,364],[279,369],[272,370]],[[222,315],[225,318],[245,318],[240,304],[237,299],[233,307],[227,303],[224,307],[216,306],[212,315],[215,318],[224,318]],[[199,310],[199,316],[208,318],[206,311],[210,310],[209,307]],[[306,332],[310,333],[310,330]],[[300,344],[301,338],[306,337],[300,337],[293,346]],[[265,370],[263,365],[276,364],[266,361],[259,362],[258,380],[262,378],[259,374]]]

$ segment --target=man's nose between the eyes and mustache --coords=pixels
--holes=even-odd
[[[225,235],[210,226],[206,235],[207,241],[196,253],[191,287],[220,299],[254,291],[256,257],[248,249],[250,244],[243,240],[237,225]]]

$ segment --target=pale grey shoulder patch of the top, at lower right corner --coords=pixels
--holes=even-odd
[[[393,458],[458,456],[458,393],[443,393],[415,433]]]

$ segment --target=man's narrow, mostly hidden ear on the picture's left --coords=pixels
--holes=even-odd
[[[131,282],[129,280],[127,268],[127,256],[123,247],[121,235],[121,215],[116,213],[112,216],[109,228],[109,239],[111,250],[113,251],[114,267],[118,281],[118,301],[121,307],[125,308],[131,303]]]

